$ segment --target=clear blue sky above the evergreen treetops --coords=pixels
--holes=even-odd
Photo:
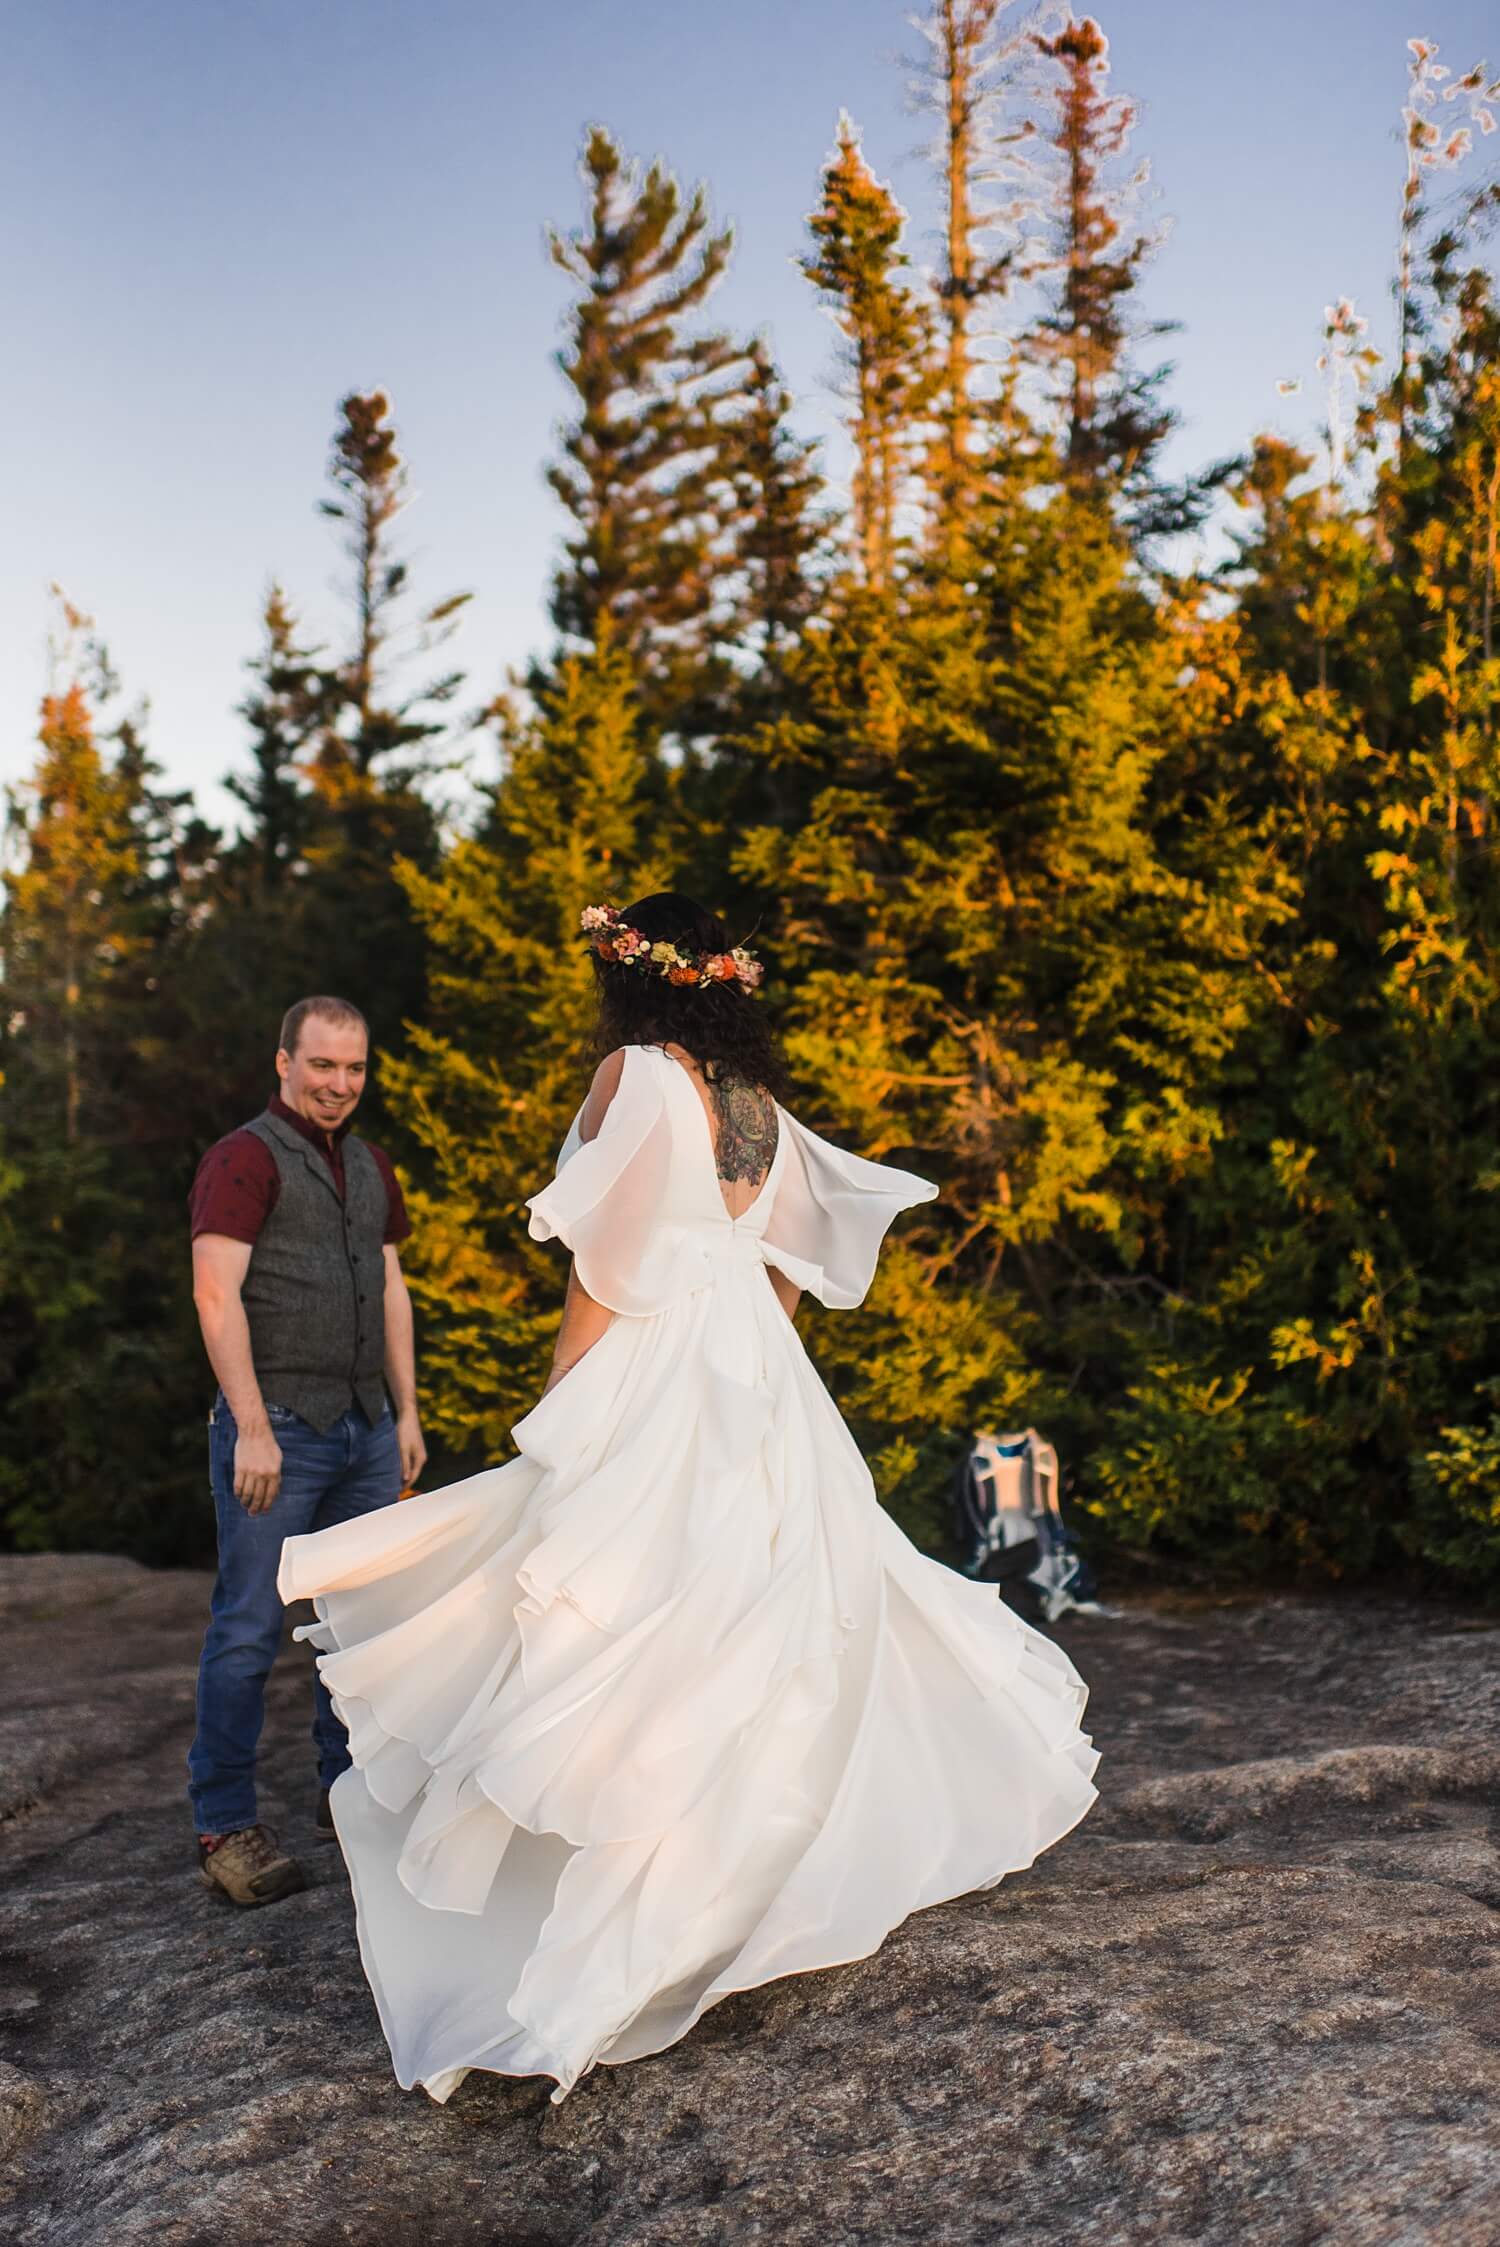
[[[278,575],[330,627],[314,515],[337,400],[384,384],[429,598],[472,589],[474,699],[546,643],[566,411],[564,281],[606,124],[705,180],[737,227],[714,317],[766,328],[811,434],[833,335],[795,272],[840,108],[932,254],[923,128],[887,0],[0,0],[0,777],[29,768],[47,582],[92,611],[150,739],[225,816],[234,703]],[[1177,319],[1179,465],[1305,434],[1338,294],[1390,330],[1406,40],[1500,65],[1493,0],[1118,0],[1170,218],[1147,310]],[[1493,142],[1489,144],[1493,146]],[[1280,400],[1275,382],[1307,391]]]

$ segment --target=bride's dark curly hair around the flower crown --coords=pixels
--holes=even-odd
[[[680,944],[692,953],[728,953],[734,944],[719,915],[707,912],[678,890],[658,890],[620,915],[651,944]],[[593,980],[600,993],[595,1054],[613,1054],[618,1045],[680,1045],[703,1074],[737,1076],[763,1085],[772,1099],[790,1092],[786,1063],[770,1034],[763,1009],[737,982],[671,984],[649,968],[622,959],[600,959],[593,953]]]

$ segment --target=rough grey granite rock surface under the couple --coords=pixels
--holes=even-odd
[[[1103,1800],[1033,1872],[561,2105],[469,2076],[436,2108],[312,1838],[303,1647],[263,1816],[312,1885],[236,1914],[195,1883],[207,1593],[0,1559],[2,2240],[1500,2243],[1500,1622],[1076,1618]]]

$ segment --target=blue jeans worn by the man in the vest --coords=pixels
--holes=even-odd
[[[234,1494],[238,1427],[222,1391],[209,1420],[218,1577],[198,1663],[198,1735],[189,1755],[189,1798],[200,1834],[236,1834],[256,1822],[265,1681],[281,1647],[285,1613],[276,1593],[283,1539],[391,1505],[402,1488],[402,1454],[388,1404],[375,1427],[355,1404],[326,1436],[285,1404],[267,1404],[265,1411],[281,1447],[281,1490],[263,1514],[245,1512]],[[323,1786],[332,1786],[348,1771],[348,1732],[317,1674],[312,1739],[319,1777]]]

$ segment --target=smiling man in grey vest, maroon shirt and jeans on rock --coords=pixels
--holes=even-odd
[[[256,1816],[281,1544],[388,1505],[427,1458],[397,1258],[411,1225],[386,1155],[350,1137],[366,1070],[359,1009],[299,1000],[281,1025],[281,1092],[209,1148],[191,1193],[193,1301],[220,1386],[209,1413],[218,1580],[189,1795],[198,1874],[240,1905],[303,1885]],[[348,1735],[321,1679],[314,1701],[317,1834],[332,1840],[328,1789],[348,1768]]]

